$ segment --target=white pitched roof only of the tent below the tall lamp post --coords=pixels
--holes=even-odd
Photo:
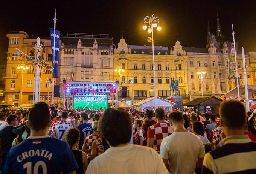
[[[154,97],[151,97],[151,98],[142,100],[142,101],[140,101],[136,104],[133,104],[132,106],[133,107],[137,107],[137,106],[152,107],[152,106],[154,106],[154,101],[155,101]],[[174,102],[168,101],[168,100],[163,99],[163,98],[158,97],[158,96],[156,97],[156,103],[157,103],[158,107],[166,107],[166,106],[171,106],[171,105],[177,105]]]

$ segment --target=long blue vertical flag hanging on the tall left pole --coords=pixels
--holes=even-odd
[[[51,45],[52,45],[52,66],[54,68],[54,71],[52,72],[53,78],[59,77],[59,36],[60,31],[55,30],[55,44],[54,44],[54,29],[50,28],[50,34],[51,34]],[[55,50],[54,50],[55,45]],[[54,50],[54,57],[53,57],[53,50]]]

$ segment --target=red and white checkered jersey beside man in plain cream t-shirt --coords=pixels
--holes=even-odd
[[[162,140],[173,133],[169,123],[156,123],[148,128],[148,138],[154,138],[153,148],[159,153]]]

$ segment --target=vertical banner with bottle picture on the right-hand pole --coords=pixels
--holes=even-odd
[[[238,42],[235,42],[235,44],[237,54]],[[227,43],[227,59],[229,60],[229,79],[231,79],[235,76],[236,72],[235,49],[233,42]]]

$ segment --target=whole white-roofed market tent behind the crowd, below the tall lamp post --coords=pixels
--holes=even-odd
[[[161,107],[161,108],[166,108],[166,109],[170,109],[170,111],[172,110],[172,107],[177,105],[176,103],[174,102],[171,102],[171,101],[168,101],[166,99],[163,99],[161,97],[156,97],[156,104],[157,104],[157,107]],[[154,110],[154,101],[155,101],[154,97],[151,97],[151,98],[148,98],[148,99],[145,99],[145,100],[142,100],[136,104],[133,104],[132,107],[136,107],[137,110],[139,111],[145,111],[146,109],[151,109],[151,110]]]

